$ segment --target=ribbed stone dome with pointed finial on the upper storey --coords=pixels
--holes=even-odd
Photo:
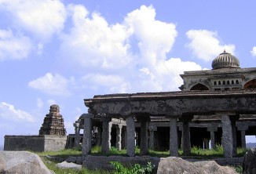
[[[218,69],[221,67],[240,67],[240,62],[236,56],[232,56],[225,50],[218,57],[216,57],[211,63],[213,69]]]

